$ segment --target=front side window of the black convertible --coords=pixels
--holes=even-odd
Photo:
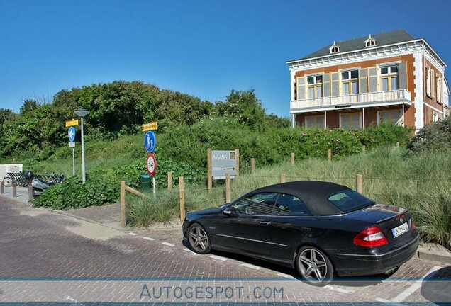
[[[232,205],[234,214],[240,215],[272,215],[277,201],[277,193],[255,193],[240,198]]]

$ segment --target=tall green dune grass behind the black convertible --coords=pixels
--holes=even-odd
[[[355,188],[355,175],[362,174],[365,196],[379,203],[410,209],[425,240],[445,246],[451,244],[451,154],[422,152],[406,157],[403,149],[384,147],[333,162],[306,159],[295,165],[264,166],[255,174],[244,173],[235,179],[231,186],[232,197],[279,183],[280,174],[285,174],[286,181],[331,181],[350,188]],[[207,193],[205,186],[189,185],[184,193],[187,212],[225,202],[224,186]],[[130,207],[130,216],[140,215],[138,210],[143,209],[146,212],[142,215],[149,215],[147,210],[152,210],[146,222],[130,217],[133,225],[148,226],[151,222],[166,222],[179,216],[177,191],[160,191],[147,203],[133,203]]]

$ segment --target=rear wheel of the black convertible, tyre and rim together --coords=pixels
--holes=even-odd
[[[296,268],[311,285],[324,286],[333,278],[333,266],[328,256],[314,246],[303,246],[299,249]]]

